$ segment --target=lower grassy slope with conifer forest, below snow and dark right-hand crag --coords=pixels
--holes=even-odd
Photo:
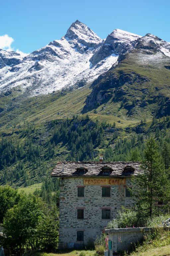
[[[0,116],[1,184],[18,187],[39,183],[49,178],[57,161],[98,160],[100,152],[105,160],[127,161],[136,147],[142,154],[143,142],[151,133],[161,140],[169,135],[169,117],[141,123],[105,114],[105,110],[77,117],[89,91],[83,87],[48,98],[20,98],[20,102],[12,104],[10,99],[15,92],[5,96],[6,109]]]

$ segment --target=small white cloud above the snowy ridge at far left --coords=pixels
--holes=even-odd
[[[14,48],[11,47],[11,44],[14,42],[14,39],[10,36],[3,35],[0,36],[0,49],[6,50],[6,51],[14,51]],[[29,53],[24,53],[20,51],[19,49],[16,50],[17,53],[19,53],[22,57],[27,56]]]

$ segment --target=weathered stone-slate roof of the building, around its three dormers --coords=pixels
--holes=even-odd
[[[130,166],[134,169],[134,175],[142,173],[140,162],[58,162],[53,169],[52,177],[77,177],[77,176],[106,176],[102,175],[102,167],[108,166],[112,169],[109,176],[127,176],[123,174],[124,168]],[[85,174],[78,174],[76,169],[84,167],[88,171]],[[108,175],[107,175],[108,176]]]

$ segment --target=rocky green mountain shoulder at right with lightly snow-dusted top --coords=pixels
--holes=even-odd
[[[170,58],[146,39],[141,38],[117,66],[93,82],[83,112],[100,111],[104,104],[107,111],[130,119],[169,114]]]

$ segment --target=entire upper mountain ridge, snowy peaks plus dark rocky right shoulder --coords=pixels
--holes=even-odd
[[[25,58],[0,54],[2,95],[12,88],[32,97],[88,85],[92,91],[82,113],[104,111],[99,106],[107,102],[110,113],[120,116],[122,111],[128,118],[144,110],[159,116],[170,111],[170,44],[152,34],[141,37],[115,29],[103,40],[77,20],[60,40]]]

